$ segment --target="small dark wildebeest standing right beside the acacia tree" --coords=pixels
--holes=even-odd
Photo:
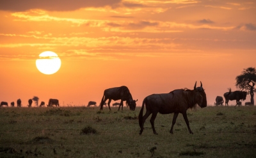
[[[236,100],[236,106],[240,106],[239,105],[239,100],[246,99],[246,95],[248,93],[246,91],[231,91],[231,88],[229,88],[229,91],[224,93],[224,97],[225,97],[225,106],[227,104],[228,106],[228,100]]]

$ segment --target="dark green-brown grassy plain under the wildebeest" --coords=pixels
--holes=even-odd
[[[1,107],[0,157],[255,157],[256,107],[188,110],[148,118],[139,135],[138,113],[104,107]],[[144,112],[145,113],[145,112]]]

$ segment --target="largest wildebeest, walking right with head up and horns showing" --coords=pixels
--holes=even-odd
[[[154,120],[156,119],[157,113],[161,114],[170,114],[174,113],[172,120],[172,127],[170,133],[173,134],[173,126],[176,122],[177,116],[179,113],[182,113],[183,118],[187,124],[190,134],[193,134],[189,127],[189,121],[187,116],[187,110],[189,108],[195,108],[196,104],[200,107],[207,106],[206,94],[204,88],[201,86],[196,88],[196,83],[194,90],[182,89],[182,90],[173,90],[170,93],[162,94],[152,94],[148,97],[145,97],[142,103],[142,107],[139,114],[139,124],[140,124],[140,134],[143,132],[143,125],[145,120],[150,114],[150,123],[154,134],[157,134],[154,126]],[[143,116],[143,109],[146,106],[146,113]]]

